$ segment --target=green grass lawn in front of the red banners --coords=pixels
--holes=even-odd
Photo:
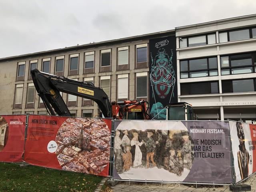
[[[0,176],[0,192],[90,192],[102,180],[100,176],[10,163],[0,163]]]

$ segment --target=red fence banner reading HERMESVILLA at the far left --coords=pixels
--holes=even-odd
[[[25,115],[0,116],[0,161],[22,162]]]

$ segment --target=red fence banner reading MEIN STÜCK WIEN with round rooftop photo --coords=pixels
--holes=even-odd
[[[26,162],[108,176],[110,119],[30,115],[28,125]]]

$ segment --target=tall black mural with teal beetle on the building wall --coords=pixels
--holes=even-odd
[[[150,116],[166,119],[166,105],[178,101],[176,82],[176,38],[169,36],[149,41]]]

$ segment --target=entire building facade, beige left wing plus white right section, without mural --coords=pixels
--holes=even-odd
[[[30,70],[93,82],[113,100],[150,100],[149,42],[176,35],[178,102],[199,120],[256,120],[256,15],[0,59],[0,114],[46,114]],[[73,115],[95,102],[62,94]]]

